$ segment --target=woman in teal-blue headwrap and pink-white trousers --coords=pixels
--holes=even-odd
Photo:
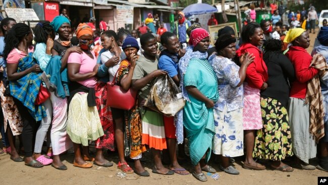
[[[53,30],[58,33],[59,38],[53,41],[53,47],[51,49],[52,57],[60,57],[60,65],[52,66],[51,70],[63,72],[65,69],[67,73],[67,60],[71,53],[81,54],[82,50],[80,47],[73,47],[69,39],[71,32],[70,21],[63,16],[57,16],[53,18],[50,26]],[[51,59],[50,59],[51,60]],[[51,76],[50,76],[51,81]],[[63,86],[63,85],[62,85]],[[68,86],[67,86],[68,87]],[[59,88],[59,87],[58,87]],[[64,86],[63,86],[64,88]],[[64,88],[65,89],[65,88]],[[66,89],[67,91],[69,89]],[[62,163],[60,154],[67,151],[72,147],[72,141],[67,135],[66,126],[67,126],[67,96],[64,92],[63,95],[59,96],[58,91],[50,92],[50,100],[52,103],[52,126],[51,126],[51,147],[52,152],[48,153],[48,156],[53,155],[52,166],[56,169],[65,170],[67,167]]]

